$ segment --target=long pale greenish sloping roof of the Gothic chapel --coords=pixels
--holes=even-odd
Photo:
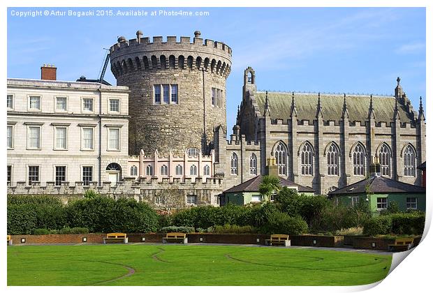
[[[298,120],[313,121],[316,119],[318,93],[294,93]],[[263,115],[265,110],[266,93],[255,91],[254,99],[258,105],[258,110]],[[290,118],[292,93],[268,92],[270,118],[283,119]],[[391,122],[394,117],[395,98],[393,96],[373,96],[373,108],[376,121]],[[321,105],[323,120],[342,120],[344,95],[321,93]],[[346,95],[346,105],[349,121],[367,121],[370,105],[370,96]],[[413,122],[412,114],[406,110],[404,105],[399,105],[400,121]],[[414,113],[415,114],[415,113]],[[416,114],[415,114],[416,116]]]

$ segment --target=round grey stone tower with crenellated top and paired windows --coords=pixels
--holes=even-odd
[[[129,153],[209,153],[214,128],[226,126],[226,79],[232,50],[200,38],[161,36],[126,40],[110,47],[117,85],[129,87]]]

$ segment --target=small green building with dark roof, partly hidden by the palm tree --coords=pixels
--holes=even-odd
[[[257,203],[262,201],[262,196],[258,192],[258,188],[260,187],[260,183],[262,183],[263,176],[258,175],[244,183],[240,183],[237,186],[233,186],[232,188],[223,192],[223,196],[221,198],[221,204],[249,204],[249,203]],[[297,190],[298,193],[304,193],[305,195],[314,195],[314,189],[309,188],[307,186],[302,186],[296,184],[292,181],[288,181],[284,178],[279,177],[279,181],[281,186],[286,186],[287,188],[291,188]]]

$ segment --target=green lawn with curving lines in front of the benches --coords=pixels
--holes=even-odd
[[[391,260],[256,246],[8,246],[8,285],[364,285],[385,278]]]

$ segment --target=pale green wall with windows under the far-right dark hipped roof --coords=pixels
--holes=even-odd
[[[339,195],[338,202],[346,205],[352,204],[352,197],[357,195]],[[359,200],[367,200],[367,195],[359,194]],[[397,202],[400,211],[406,211],[407,197],[415,197],[417,199],[417,210],[425,211],[425,193],[389,193],[389,194],[372,194],[368,195],[369,206],[372,211],[377,211],[377,198],[388,198],[388,206],[390,202]]]

